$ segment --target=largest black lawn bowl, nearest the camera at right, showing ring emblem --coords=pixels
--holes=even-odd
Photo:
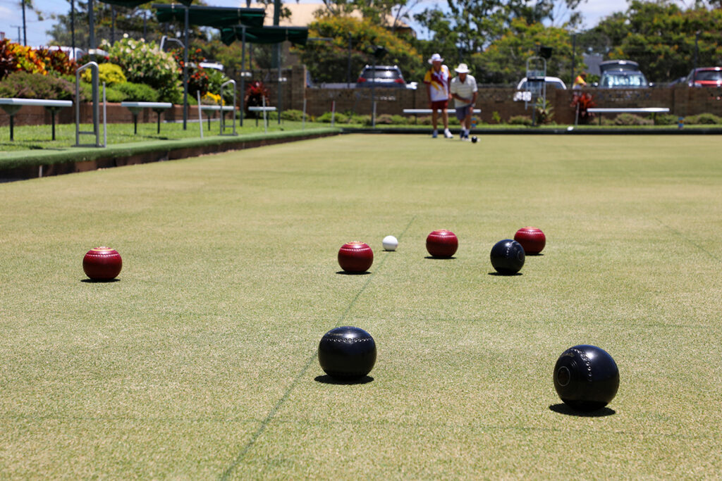
[[[575,345],[565,350],[554,366],[554,389],[573,410],[599,410],[617,395],[617,363],[604,349]]]

